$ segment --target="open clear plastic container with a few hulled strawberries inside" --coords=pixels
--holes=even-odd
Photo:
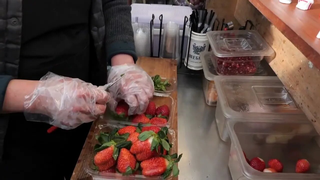
[[[252,127],[268,128],[252,128]],[[320,179],[320,136],[309,121],[295,120],[230,120],[231,138],[229,169],[233,180],[292,180]],[[270,159],[278,159],[282,173],[264,173],[253,169],[245,160],[263,159],[268,168]],[[295,173],[296,162],[307,159],[307,173]]]

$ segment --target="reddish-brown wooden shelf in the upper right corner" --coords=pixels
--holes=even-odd
[[[310,10],[296,8],[298,0],[282,4],[279,0],[249,0],[308,60],[320,69],[320,0]]]

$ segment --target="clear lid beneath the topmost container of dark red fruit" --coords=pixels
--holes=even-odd
[[[203,73],[204,77],[208,80],[214,80],[215,76],[218,76],[217,71],[214,68],[214,65],[212,63],[212,57],[213,53],[209,51],[204,51],[200,53],[200,60],[203,67]],[[254,74],[254,76],[267,76],[268,73],[263,69],[261,64],[258,67],[258,70]]]

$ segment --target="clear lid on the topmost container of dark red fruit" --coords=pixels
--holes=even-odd
[[[209,31],[206,33],[218,57],[269,56],[274,50],[255,30]]]

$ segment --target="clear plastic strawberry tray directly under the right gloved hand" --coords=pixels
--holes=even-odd
[[[141,124],[141,126],[158,126],[158,127],[170,127],[171,126],[171,119],[173,115],[173,111],[175,110],[175,102],[173,98],[169,94],[163,94],[163,93],[154,93],[153,98],[151,101],[156,103],[156,107],[162,106],[164,104],[168,105],[170,109],[170,115],[169,118],[167,119],[167,123],[165,124],[158,124],[158,125],[152,125],[152,124]],[[134,125],[138,126],[137,123],[132,123],[131,119],[132,116],[129,116],[127,118],[116,118],[112,115],[112,112],[110,110],[107,110],[106,113],[102,117],[104,120],[110,121],[110,122],[116,122],[116,123],[121,123],[125,125]]]

